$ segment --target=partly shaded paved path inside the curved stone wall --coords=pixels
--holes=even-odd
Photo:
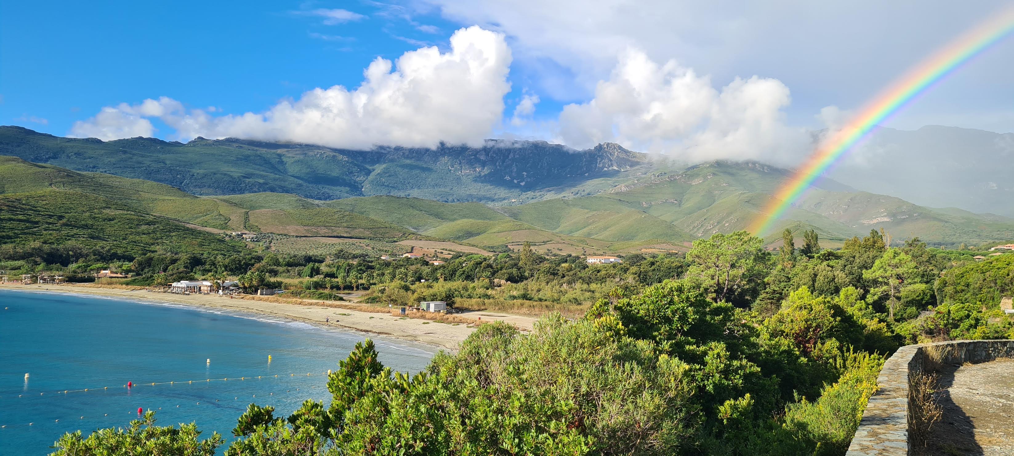
[[[946,367],[926,455],[1014,456],[1014,359]]]

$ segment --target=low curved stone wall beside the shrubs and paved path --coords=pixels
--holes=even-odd
[[[866,405],[846,456],[909,454],[909,380],[934,362],[930,353],[937,353],[942,364],[1014,358],[1014,340],[936,342],[897,349],[877,377],[879,388]]]

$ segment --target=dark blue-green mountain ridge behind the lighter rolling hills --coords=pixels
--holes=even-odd
[[[314,199],[396,195],[458,202],[533,200],[601,189],[647,156],[619,145],[587,151],[546,142],[488,141],[480,148],[332,149],[237,139],[187,144],[153,138],[102,142],[0,126],[0,155],[177,187],[195,195],[294,193]]]

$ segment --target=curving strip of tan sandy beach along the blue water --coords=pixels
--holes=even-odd
[[[461,341],[464,341],[469,334],[476,331],[475,325],[467,323],[448,324],[423,318],[406,318],[394,316],[389,313],[371,312],[342,308],[343,304],[354,307],[358,304],[352,302],[331,302],[327,305],[313,305],[308,300],[300,299],[301,303],[292,303],[292,298],[275,298],[267,296],[257,296],[254,298],[241,298],[220,296],[218,294],[172,294],[155,291],[127,290],[120,288],[102,288],[93,285],[81,286],[74,284],[32,284],[22,285],[18,283],[0,283],[0,289],[24,290],[24,291],[50,291],[77,294],[92,294],[99,296],[111,296],[122,299],[161,301],[190,304],[197,306],[209,306],[219,309],[240,310],[265,315],[273,315],[287,320],[312,323],[320,326],[335,328],[348,328],[364,333],[378,334],[388,337],[417,341],[430,344],[447,350],[456,350]],[[468,318],[477,322],[504,321],[510,323],[521,330],[530,330],[532,324],[537,320],[532,316],[509,315],[499,312],[475,311],[458,313],[454,316]],[[328,320],[329,322],[325,322]]]

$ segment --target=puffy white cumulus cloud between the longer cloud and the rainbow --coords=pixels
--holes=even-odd
[[[789,102],[778,80],[736,78],[718,90],[675,61],[658,64],[629,49],[590,101],[564,106],[557,131],[576,148],[613,142],[691,161],[787,162],[807,142],[803,129],[785,123]]]

